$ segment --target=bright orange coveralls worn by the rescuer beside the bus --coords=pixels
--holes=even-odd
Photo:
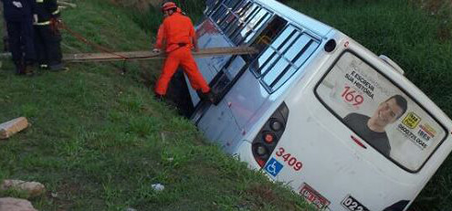
[[[178,10],[179,11],[179,10]],[[179,65],[184,69],[184,73],[190,80],[194,90],[201,90],[203,93],[210,91],[208,84],[199,72],[194,62],[191,52],[193,47],[192,38],[196,38],[194,26],[188,16],[175,12],[163,20],[157,34],[155,48],[163,48],[167,57],[164,61],[162,74],[155,85],[155,93],[165,95],[168,90],[168,84],[173,77]]]

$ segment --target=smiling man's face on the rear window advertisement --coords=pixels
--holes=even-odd
[[[403,112],[403,109],[400,108],[397,101],[393,98],[380,103],[377,110],[373,114],[373,118],[376,118],[376,121],[380,125],[385,126],[396,121]]]

